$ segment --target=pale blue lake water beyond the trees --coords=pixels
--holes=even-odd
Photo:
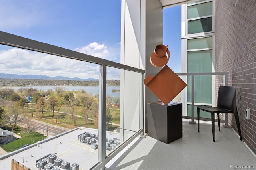
[[[10,89],[14,89],[17,91],[19,88],[33,88],[38,89],[38,91],[44,90],[48,91],[49,89],[54,90],[54,87],[64,87],[65,91],[81,91],[84,90],[86,93],[92,93],[94,96],[95,94],[99,94],[99,87],[98,86],[19,86],[19,87],[7,87]],[[4,88],[4,87],[2,87]],[[1,88],[0,88],[1,89]],[[120,86],[106,86],[106,95],[112,95],[112,97],[120,97],[120,92],[112,92],[112,89],[120,90]],[[55,90],[54,90],[55,91]]]

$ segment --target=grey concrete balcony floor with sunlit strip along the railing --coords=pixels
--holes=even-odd
[[[232,128],[183,121],[183,137],[165,144],[150,136],[136,138],[127,149],[106,164],[106,170],[227,170],[256,169],[256,156]],[[240,166],[240,167],[239,167]],[[250,166],[250,167],[246,167]]]

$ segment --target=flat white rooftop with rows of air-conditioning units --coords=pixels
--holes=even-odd
[[[78,164],[80,169],[90,169],[98,163],[98,148],[95,149],[92,144],[85,141],[80,142],[78,136],[86,132],[95,134],[95,136],[98,135],[98,130],[80,127],[52,136],[36,144],[0,156],[0,169],[10,170],[11,160],[14,159],[31,170],[38,170],[36,162],[46,157],[45,159],[49,163],[48,156],[50,154],[56,154],[57,158],[63,159],[64,162],[70,162],[70,165]],[[108,140],[118,139],[119,133],[107,132],[106,138]],[[111,152],[111,150],[106,150],[106,153],[108,152]]]

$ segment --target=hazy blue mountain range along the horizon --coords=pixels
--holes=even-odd
[[[5,73],[0,73],[0,79],[80,80],[80,81],[96,80],[98,81],[98,79],[94,79],[94,78],[80,79],[77,77],[74,77],[74,78],[63,77],[63,76],[50,77],[46,75],[31,75],[31,74],[18,75],[18,74],[5,74]]]

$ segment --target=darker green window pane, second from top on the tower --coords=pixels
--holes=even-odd
[[[188,21],[188,34],[212,31],[212,17]]]

